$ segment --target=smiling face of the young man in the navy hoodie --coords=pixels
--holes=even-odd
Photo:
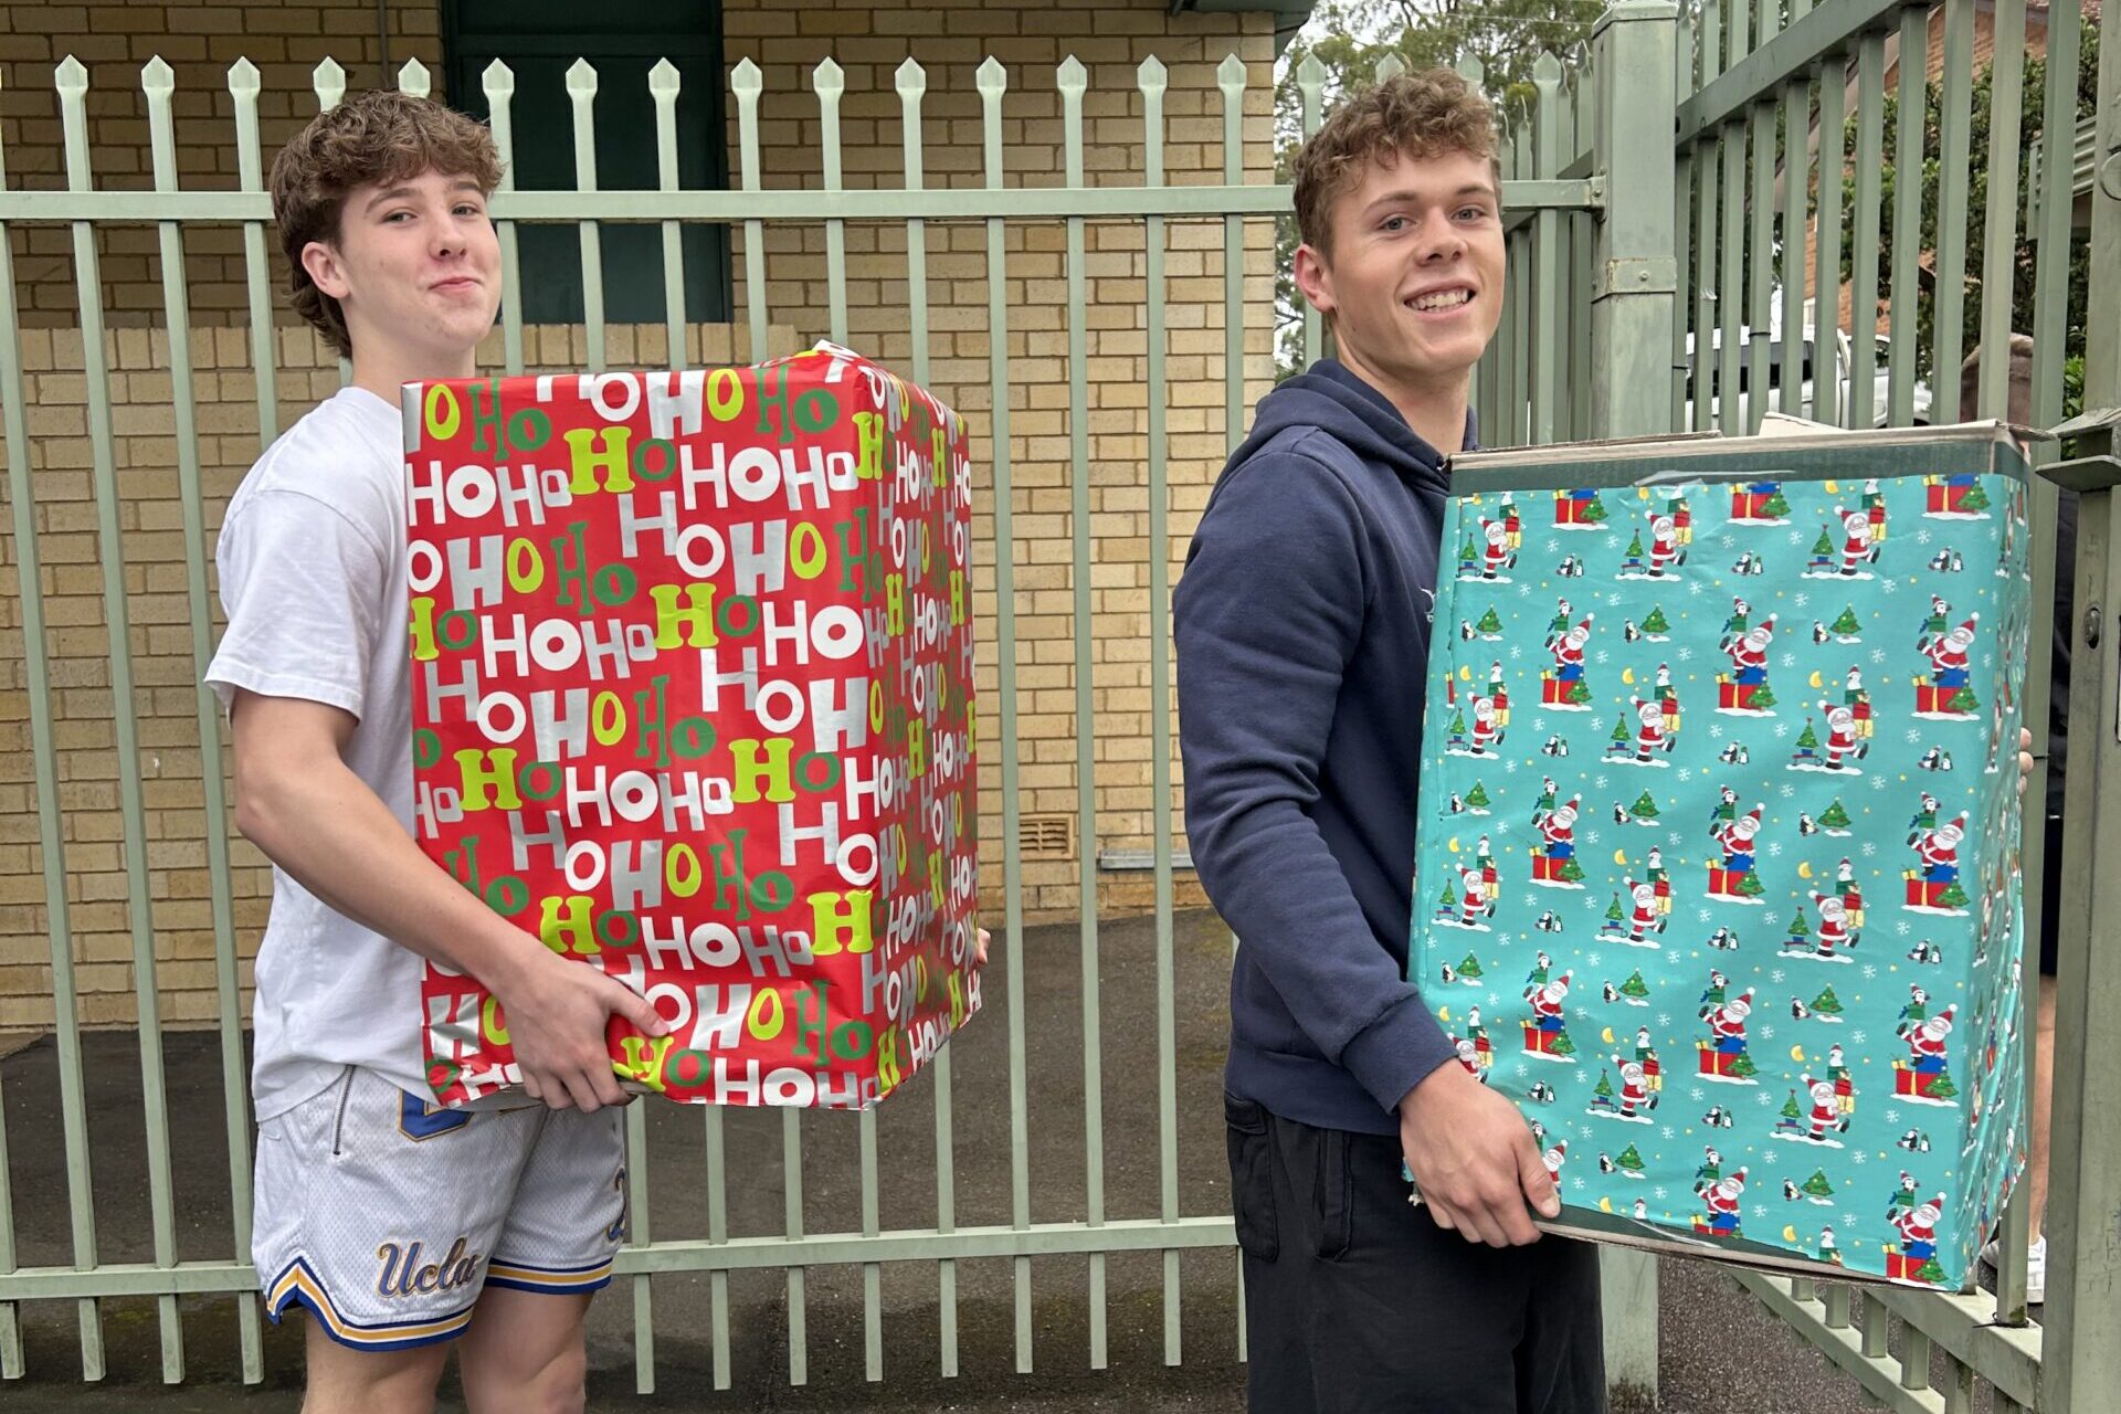
[[[1387,153],[1332,201],[1328,248],[1296,282],[1334,324],[1340,358],[1387,390],[1463,384],[1502,320],[1502,208],[1472,153]]]

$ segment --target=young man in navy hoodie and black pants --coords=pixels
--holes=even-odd
[[[1406,965],[1449,458],[1502,318],[1493,119],[1447,70],[1296,159],[1338,358],[1258,407],[1175,596],[1186,825],[1239,935],[1224,1077],[1258,1414],[1606,1408],[1593,1249]],[[1421,1187],[1408,1204],[1402,1160]]]

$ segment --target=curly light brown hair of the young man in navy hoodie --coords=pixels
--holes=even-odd
[[[1487,157],[1502,191],[1495,112],[1449,68],[1400,74],[1355,93],[1296,153],[1296,229],[1302,242],[1319,259],[1332,259],[1332,204],[1362,180],[1368,163],[1453,153]]]

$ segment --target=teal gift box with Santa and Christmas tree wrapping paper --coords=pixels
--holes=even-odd
[[[2023,1166],[1998,424],[1453,466],[1408,977],[1555,1225],[1966,1289]]]

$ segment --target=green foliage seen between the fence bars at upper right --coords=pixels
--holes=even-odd
[[[2081,32],[2081,49],[2076,61],[2076,112],[2091,112],[2098,102],[2098,72],[2100,72],[2100,36],[2098,25],[2085,25]],[[1949,293],[1947,297],[1964,310],[1962,329],[1964,343],[1962,350],[1970,352],[1979,343],[1981,331],[1981,297],[1983,297],[1983,261],[1987,246],[1987,146],[1989,146],[1989,112],[1992,112],[1992,70],[1983,66],[1975,74],[1973,89],[1973,125],[1966,148],[1966,286],[1960,293]],[[1888,252],[1892,250],[1892,225],[1896,214],[1894,189],[1898,187],[1898,163],[1894,159],[1894,144],[1898,142],[1898,114],[1900,95],[1896,89],[1886,91],[1886,159],[1879,170],[1881,178],[1881,201],[1879,201],[1879,244],[1875,254],[1862,252],[1866,259],[1877,259],[1881,265],[1879,290],[1888,290],[1888,271],[1883,269]],[[2019,119],[2019,142],[2021,157],[2032,146],[2032,140],[2043,134],[2047,125],[2047,59],[2028,57],[2023,76],[2023,104]],[[1926,112],[1922,121],[1922,250],[1936,250],[1936,197],[1939,197],[1939,153],[1943,134],[1943,87],[1939,83],[1926,85]],[[1847,117],[1845,129],[1847,151],[1854,153],[1856,146],[1856,112]],[[2068,144],[2066,144],[2068,146]],[[1953,180],[1962,180],[1953,174]],[[2019,204],[2023,204],[2023,167],[2019,170]],[[1813,193],[1816,195],[1816,193]],[[1813,208],[1816,210],[1816,208]],[[1843,170],[1843,206],[1841,206],[1841,278],[1850,280],[1854,271],[1854,259],[1858,257],[1854,248],[1854,214],[1856,214],[1856,170],[1850,163]],[[2019,223],[2023,227],[2023,223]],[[2032,333],[2034,329],[2034,259],[2038,254],[2038,242],[2030,240],[2021,229],[2017,233],[2017,250],[2013,254],[2013,280],[2011,280],[2011,329],[2017,333]],[[2079,369],[2076,382],[2064,377],[2064,405],[2062,416],[2070,418],[2083,411],[2085,388],[2083,388],[2083,350],[2085,350],[2085,318],[2091,297],[2091,248],[2085,233],[2074,233],[2070,237],[2070,259],[2068,259],[2068,310],[2064,316],[2064,367],[2072,363]],[[1936,290],[1930,282],[1924,282],[1915,305],[1915,375],[1930,382],[1932,390],[1943,394],[1939,384],[1949,382],[1958,386],[1958,371],[1947,369],[1943,375],[1934,369],[1936,360]],[[1960,416],[1970,418],[1975,409],[1962,407]]]

